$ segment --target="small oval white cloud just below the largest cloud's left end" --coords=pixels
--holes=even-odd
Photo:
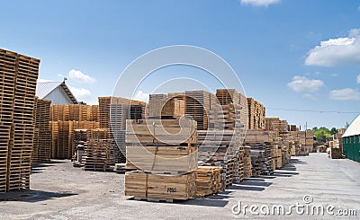
[[[319,79],[309,79],[300,75],[293,76],[293,81],[287,84],[295,92],[316,92],[323,85],[324,82]]]

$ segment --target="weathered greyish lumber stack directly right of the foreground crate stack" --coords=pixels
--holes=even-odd
[[[221,184],[232,184],[236,152],[240,144],[233,130],[198,130],[199,161],[204,165],[220,166]]]

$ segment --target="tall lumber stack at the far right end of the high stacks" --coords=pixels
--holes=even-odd
[[[264,129],[266,128],[266,109],[263,104],[247,98],[248,109],[248,128],[249,129]]]

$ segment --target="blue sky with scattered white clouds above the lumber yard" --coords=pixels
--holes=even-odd
[[[0,48],[40,58],[40,79],[67,76],[88,103],[111,95],[137,57],[181,44],[223,57],[267,116],[339,128],[360,112],[359,0],[0,0],[0,7]],[[139,97],[169,75],[202,80],[201,72],[159,70]]]

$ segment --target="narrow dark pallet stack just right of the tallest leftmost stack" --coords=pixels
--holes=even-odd
[[[34,121],[36,136],[34,136],[34,145],[32,147],[32,165],[49,161],[51,157],[50,104],[51,101],[35,97]]]

